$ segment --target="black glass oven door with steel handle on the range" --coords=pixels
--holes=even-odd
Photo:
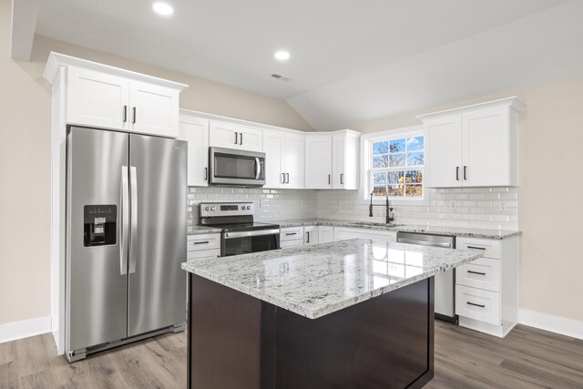
[[[223,232],[220,256],[277,250],[280,248],[280,230],[252,230]]]

